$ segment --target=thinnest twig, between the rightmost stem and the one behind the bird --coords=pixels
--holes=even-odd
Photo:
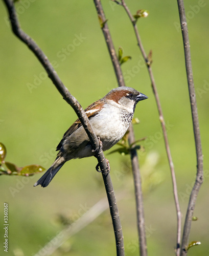
[[[175,177],[175,170],[174,170],[174,165],[173,165],[173,161],[172,161],[172,157],[171,157],[171,151],[170,151],[170,147],[169,147],[169,142],[168,142],[168,135],[167,135],[167,131],[166,131],[166,123],[164,120],[164,116],[162,113],[162,109],[161,109],[161,104],[160,104],[160,100],[159,100],[159,96],[158,96],[158,92],[157,92],[157,88],[156,88],[156,84],[155,84],[155,80],[154,80],[154,76],[152,73],[152,68],[151,68],[151,63],[150,60],[148,59],[146,52],[144,50],[143,44],[142,44],[142,40],[140,38],[140,34],[138,33],[138,29],[136,26],[136,20],[133,18],[130,10],[128,9],[126,3],[124,0],[121,0],[121,3],[126,11],[126,13],[128,14],[131,23],[133,25],[133,29],[135,32],[135,36],[136,36],[136,40],[137,40],[137,44],[138,47],[140,48],[142,55],[145,59],[145,62],[147,64],[147,68],[148,68],[148,72],[149,72],[149,76],[151,79],[151,84],[152,84],[152,89],[154,92],[154,96],[155,96],[155,100],[157,103],[157,109],[158,109],[158,113],[159,113],[159,120],[162,126],[162,132],[164,135],[164,141],[165,141],[165,146],[166,146],[166,152],[167,152],[167,156],[168,156],[168,160],[169,160],[169,165],[170,165],[170,170],[171,170],[171,176],[172,176],[172,183],[173,183],[173,193],[174,193],[174,200],[175,200],[175,206],[176,206],[176,212],[177,212],[177,245],[176,245],[176,255],[179,255],[180,253],[180,236],[181,236],[181,211],[180,211],[180,204],[179,204],[179,200],[178,200],[178,192],[177,192],[177,184],[176,184],[176,177]]]

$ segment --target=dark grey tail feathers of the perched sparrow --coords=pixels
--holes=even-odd
[[[34,184],[34,187],[37,185],[41,185],[42,187],[48,186],[64,163],[65,161],[63,161],[62,157],[57,157],[47,172],[45,172],[44,175]]]

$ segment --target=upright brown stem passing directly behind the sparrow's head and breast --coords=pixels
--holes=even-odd
[[[105,41],[107,44],[107,48],[112,60],[112,65],[115,70],[115,75],[117,76],[117,80],[119,86],[125,86],[121,66],[116,55],[114,45],[111,39],[111,35],[109,32],[109,28],[107,25],[107,20],[101,5],[100,0],[94,0],[97,13],[101,20],[101,28],[105,37]],[[135,141],[134,132],[132,124],[129,127],[129,144]],[[141,184],[141,176],[140,176],[140,168],[138,165],[138,156],[135,150],[131,151],[131,165],[132,165],[132,173],[134,178],[134,189],[135,189],[135,201],[136,201],[136,214],[137,214],[137,231],[139,236],[140,243],[140,253],[141,256],[147,255],[147,242],[146,242],[146,231],[145,231],[145,219],[144,219],[144,205],[143,205],[143,196],[142,196],[142,184]]]

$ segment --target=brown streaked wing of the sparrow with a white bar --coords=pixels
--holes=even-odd
[[[104,103],[101,103],[100,100],[95,101],[94,103],[90,104],[84,111],[88,117],[88,119],[90,120],[90,118],[98,115],[98,113],[100,112],[100,110],[103,108]],[[72,125],[71,127],[69,127],[69,129],[65,132],[65,134],[63,135],[62,140],[60,141],[60,143],[57,146],[56,151],[60,150],[61,146],[62,146],[62,142],[64,141],[64,139],[66,139],[66,137],[70,136],[73,132],[75,132],[80,126],[81,126],[81,121],[78,118]]]

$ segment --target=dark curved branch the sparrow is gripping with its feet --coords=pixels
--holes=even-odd
[[[7,7],[12,30],[13,30],[14,34],[30,48],[30,50],[35,54],[35,56],[41,62],[42,66],[44,67],[45,71],[47,71],[49,77],[55,84],[55,86],[58,89],[58,91],[60,92],[60,94],[63,96],[63,98],[66,100],[66,102],[72,106],[72,108],[78,115],[78,117],[79,117],[89,139],[90,139],[92,147],[94,148],[94,150],[96,150],[96,157],[98,159],[100,169],[102,171],[102,177],[104,180],[107,198],[108,198],[108,202],[109,202],[110,214],[111,214],[113,228],[114,228],[114,234],[115,234],[115,241],[116,241],[116,245],[117,245],[117,251],[124,250],[124,248],[123,248],[124,246],[122,243],[123,242],[123,233],[122,233],[122,227],[121,227],[121,222],[120,222],[120,218],[119,218],[118,206],[117,206],[117,202],[116,202],[115,195],[114,195],[112,181],[111,181],[110,175],[107,172],[107,170],[108,170],[107,162],[105,160],[103,151],[102,150],[98,151],[99,140],[97,138],[97,135],[95,134],[94,130],[92,129],[92,126],[91,126],[84,110],[82,109],[80,103],[76,100],[76,98],[74,96],[71,95],[71,93],[69,93],[67,88],[64,86],[64,84],[60,80],[59,76],[57,75],[56,71],[52,67],[50,61],[48,60],[47,56],[38,47],[36,42],[29,35],[27,35],[24,31],[22,31],[20,29],[20,25],[18,22],[18,18],[17,18],[17,14],[15,11],[13,1],[3,0],[3,2],[5,3],[5,5]],[[120,249],[118,249],[118,248],[120,248]],[[118,255],[123,255],[123,254],[118,254]]]

